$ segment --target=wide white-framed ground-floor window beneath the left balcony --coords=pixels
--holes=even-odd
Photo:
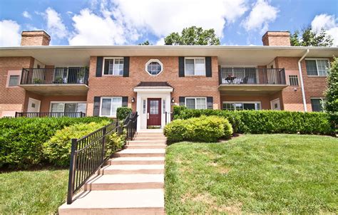
[[[87,104],[85,102],[51,102],[51,112],[84,112]]]

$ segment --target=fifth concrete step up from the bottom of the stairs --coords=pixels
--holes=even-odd
[[[164,157],[165,149],[126,149],[113,154],[113,157]]]

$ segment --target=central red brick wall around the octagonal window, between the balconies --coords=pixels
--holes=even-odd
[[[145,63],[150,59],[158,59],[163,63],[163,72],[152,76],[145,71]],[[220,108],[220,93],[218,91],[217,57],[212,57],[212,77],[178,77],[178,57],[140,56],[130,57],[129,77],[103,76],[95,77],[96,56],[91,57],[88,91],[88,115],[93,114],[94,96],[128,96],[128,106],[135,111],[136,102],[130,103],[136,93],[133,88],[140,81],[168,81],[173,86],[171,95],[178,103],[179,96],[212,96],[214,108]]]

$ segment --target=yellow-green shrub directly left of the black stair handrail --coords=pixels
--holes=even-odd
[[[58,167],[68,167],[71,155],[71,139],[81,138],[99,128],[108,125],[109,121],[79,123],[58,130],[50,140],[43,143],[43,154],[48,162]]]

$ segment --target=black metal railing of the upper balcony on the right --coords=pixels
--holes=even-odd
[[[221,68],[220,84],[285,85],[284,68]]]

